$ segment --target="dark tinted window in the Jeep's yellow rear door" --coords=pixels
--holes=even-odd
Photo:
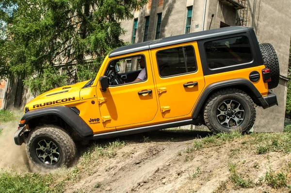
[[[159,51],[157,52],[157,62],[161,77],[175,76],[197,70],[192,46]]]

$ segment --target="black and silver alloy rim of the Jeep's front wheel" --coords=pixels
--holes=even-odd
[[[36,156],[46,165],[55,165],[60,160],[58,146],[50,140],[41,140],[35,148]]]

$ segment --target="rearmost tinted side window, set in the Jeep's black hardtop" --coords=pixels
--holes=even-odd
[[[204,48],[210,69],[253,61],[249,40],[246,36],[206,42]]]

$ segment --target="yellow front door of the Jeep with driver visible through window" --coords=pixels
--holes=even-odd
[[[108,61],[102,75],[109,78],[110,86],[101,91],[100,82],[97,84],[100,121],[104,127],[127,129],[153,120],[158,103],[149,51],[117,56]],[[132,71],[139,72],[137,77],[131,78]]]

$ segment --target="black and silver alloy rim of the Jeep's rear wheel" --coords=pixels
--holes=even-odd
[[[236,100],[224,100],[217,107],[216,119],[218,123],[226,129],[233,129],[241,126],[244,118],[245,112],[242,104]]]

